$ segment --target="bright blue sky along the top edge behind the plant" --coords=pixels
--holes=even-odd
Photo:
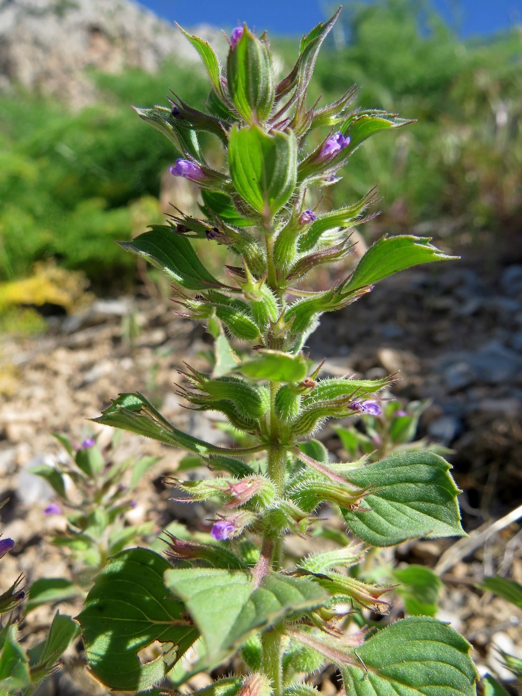
[[[182,26],[206,22],[230,29],[247,22],[258,31],[302,35],[329,16],[338,3],[322,0],[139,0]],[[457,24],[463,37],[488,35],[522,22],[522,0],[432,0],[438,12]],[[342,1],[339,3],[341,4]],[[345,0],[349,6],[349,0]],[[453,18],[453,19],[452,19]]]

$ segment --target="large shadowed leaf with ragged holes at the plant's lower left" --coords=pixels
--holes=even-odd
[[[109,560],[78,617],[90,670],[118,691],[147,689],[171,670],[198,638],[180,601],[163,582],[171,565],[145,548]],[[142,664],[138,653],[155,641],[164,653]]]

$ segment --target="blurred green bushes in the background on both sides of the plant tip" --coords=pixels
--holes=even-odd
[[[485,231],[509,246],[522,207],[522,30],[463,42],[417,0],[351,5],[341,17],[342,32],[317,61],[310,103],[357,83],[357,106],[418,122],[367,141],[325,190],[326,204],[379,184],[381,231],[465,230],[476,243]],[[283,76],[296,42],[273,43]],[[0,98],[0,280],[47,258],[81,269],[98,291],[135,277],[136,260],[113,242],[143,231],[143,219],[161,219],[161,173],[177,153],[129,105],[166,104],[168,88],[198,105],[208,83],[203,70],[173,63],[153,76],[96,79],[103,102],[79,113],[26,93]]]

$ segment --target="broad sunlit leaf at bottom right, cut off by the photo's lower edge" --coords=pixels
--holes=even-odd
[[[340,665],[346,692],[357,696],[474,696],[470,644],[431,617],[411,617],[379,631]]]

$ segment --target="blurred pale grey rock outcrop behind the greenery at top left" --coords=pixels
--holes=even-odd
[[[198,27],[219,52],[217,29]],[[58,97],[81,109],[97,96],[89,70],[155,72],[167,56],[196,64],[198,56],[173,24],[132,0],[16,0],[0,3],[0,87]],[[198,70],[199,62],[198,62]]]

